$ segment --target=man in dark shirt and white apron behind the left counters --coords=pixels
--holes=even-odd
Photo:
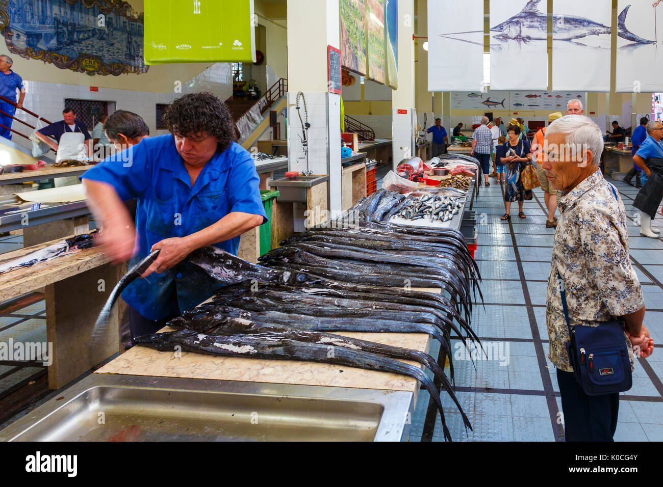
[[[39,129],[34,135],[56,151],[56,162],[66,159],[84,160],[91,154],[92,139],[88,128],[76,120],[76,112],[71,108],[64,109],[62,117],[63,120]],[[72,184],[79,184],[76,176],[55,178],[56,188]]]

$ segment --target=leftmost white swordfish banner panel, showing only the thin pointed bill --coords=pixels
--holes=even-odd
[[[483,0],[428,0],[428,91],[483,87]]]

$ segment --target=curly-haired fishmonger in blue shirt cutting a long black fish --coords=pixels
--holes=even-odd
[[[184,95],[168,107],[164,123],[171,135],[145,138],[81,176],[103,227],[99,238],[115,262],[131,257],[135,264],[160,249],[146,278],[122,294],[132,337],[154,333],[211,296],[200,268],[184,261],[190,252],[214,245],[237,254],[239,236],[267,221],[255,163],[233,141],[223,101],[211,93]],[[131,198],[138,200],[135,225],[123,204]]]

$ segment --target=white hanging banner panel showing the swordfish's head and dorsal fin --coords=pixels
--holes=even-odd
[[[547,5],[491,0],[491,90],[548,87]]]

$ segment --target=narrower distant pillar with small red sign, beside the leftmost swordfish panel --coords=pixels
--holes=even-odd
[[[392,150],[394,168],[414,154],[414,0],[398,1],[398,89],[392,93]]]

